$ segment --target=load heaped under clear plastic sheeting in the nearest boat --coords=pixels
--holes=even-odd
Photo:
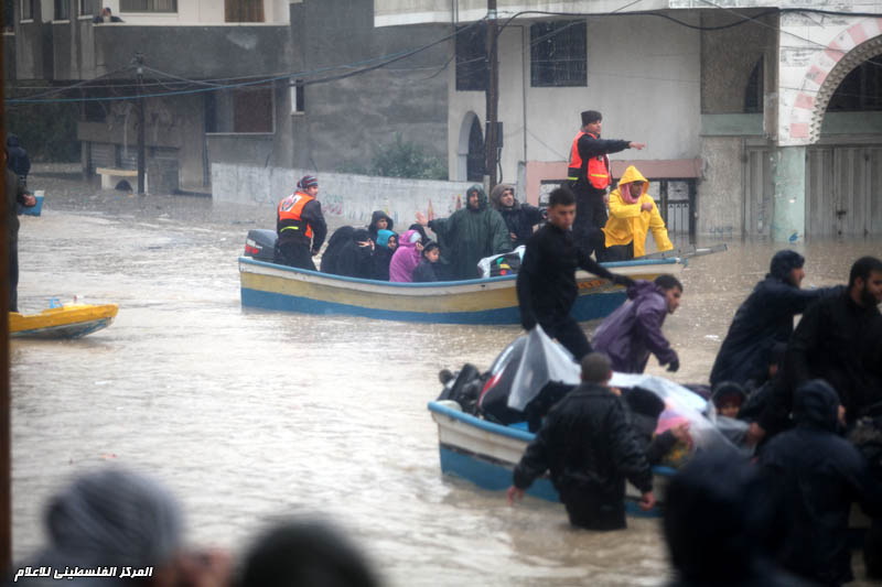
[[[516,338],[481,373],[471,363],[459,372],[442,371],[438,398],[453,400],[463,412],[490,422],[536,432],[555,403],[580,382],[572,355],[540,326]],[[667,379],[613,373],[610,387],[621,393],[632,424],[654,464],[682,466],[696,450],[722,446],[736,453],[746,423],[718,418],[713,404]],[[687,424],[691,443],[677,442],[673,431]]]

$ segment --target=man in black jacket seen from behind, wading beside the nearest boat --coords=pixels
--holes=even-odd
[[[606,385],[610,359],[592,352],[581,362],[582,383],[555,404],[515,467],[508,503],[548,470],[572,525],[619,530],[627,525],[625,479],[641,491],[641,509],[649,510],[653,471],[627,409]]]

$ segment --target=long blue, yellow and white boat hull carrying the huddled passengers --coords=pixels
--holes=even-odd
[[[605,263],[615,273],[652,280],[678,274],[680,259]],[[243,307],[308,314],[348,314],[406,322],[442,324],[520,324],[516,275],[434,283],[390,283],[293,269],[239,258]],[[577,320],[609,315],[625,301],[623,287],[590,273],[577,272]]]

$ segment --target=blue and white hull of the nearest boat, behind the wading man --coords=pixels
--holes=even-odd
[[[515,465],[533,441],[533,433],[466,414],[453,401],[429,402],[429,411],[438,424],[441,472],[455,475],[491,491],[508,489]],[[676,470],[670,467],[653,467],[653,492],[659,498],[664,496],[664,488]],[[527,493],[548,501],[559,501],[558,492],[547,476],[537,479],[527,489]],[[637,507],[639,491],[631,483],[627,485],[625,494],[628,514],[652,518],[660,515],[658,508],[644,512]]]

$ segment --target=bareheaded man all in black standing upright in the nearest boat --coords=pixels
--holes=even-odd
[[[579,361],[591,352],[591,345],[579,323],[570,316],[579,287],[576,270],[582,268],[616,285],[634,285],[626,275],[616,275],[596,263],[576,242],[571,227],[576,214],[576,196],[558,187],[548,198],[548,222],[527,241],[524,260],[517,273],[517,301],[520,324],[542,330],[569,350]]]

